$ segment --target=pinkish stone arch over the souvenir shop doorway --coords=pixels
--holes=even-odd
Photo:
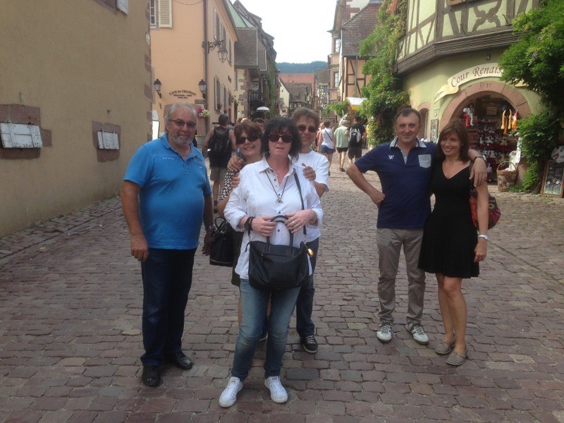
[[[486,94],[503,95],[514,109],[519,110],[519,115],[521,117],[527,116],[531,113],[531,108],[527,103],[527,99],[525,99],[523,94],[521,94],[516,88],[505,85],[503,82],[479,82],[477,84],[470,85],[470,87],[462,90],[456,94],[452,100],[450,100],[450,103],[446,106],[443,113],[443,118],[441,118],[441,122],[439,123],[439,130],[442,130],[450,119],[460,116],[462,109],[464,109],[467,104]]]

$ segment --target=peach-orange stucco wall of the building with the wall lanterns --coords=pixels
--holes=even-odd
[[[200,80],[207,79],[207,109],[212,113],[208,119],[199,119],[198,135],[205,135],[216,122],[219,111],[214,109],[214,76],[217,76],[227,89],[233,92],[233,56],[231,63],[226,60],[221,63],[216,47],[207,52],[202,47],[204,41],[204,7],[207,5],[207,39],[214,42],[214,9],[219,13],[226,32],[231,38],[232,52],[235,42],[235,30],[231,25],[226,9],[221,0],[192,2],[194,4],[180,4],[172,2],[172,27],[151,28],[151,54],[154,78],[162,82],[161,96],[154,94],[153,109],[160,118],[160,132],[164,132],[163,113],[166,105],[175,102],[188,102],[196,108],[204,108],[204,104],[195,104],[203,100],[198,88]],[[226,46],[228,49],[228,46]],[[207,56],[207,78],[204,73],[204,58]],[[231,80],[230,80],[231,79]],[[233,112],[232,112],[233,113]],[[231,116],[233,119],[233,116]]]

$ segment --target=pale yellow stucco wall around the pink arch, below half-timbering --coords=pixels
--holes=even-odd
[[[422,105],[429,104],[429,121],[438,118],[439,122],[441,122],[445,109],[450,102],[453,101],[456,94],[458,94],[446,95],[442,99],[439,99],[439,102],[434,102],[435,94],[448,82],[448,78],[472,66],[485,63],[497,63],[502,52],[503,50],[489,52],[489,61],[486,60],[486,54],[483,52],[461,54],[459,56],[450,56],[447,59],[441,59],[403,78],[403,89],[410,92],[412,107],[420,109]],[[479,78],[470,82],[462,82],[462,84],[460,84],[460,91],[465,90],[471,85],[489,81],[500,82],[498,78]],[[539,95],[527,90],[525,87],[517,87],[517,90],[527,100],[532,113],[536,114],[542,110]],[[429,128],[427,129],[429,130]]]

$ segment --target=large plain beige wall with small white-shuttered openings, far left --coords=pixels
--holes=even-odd
[[[94,0],[2,2],[0,104],[39,107],[52,147],[0,160],[0,235],[118,192],[149,133],[146,13],[147,1],[128,16]],[[121,127],[118,159],[97,160],[92,121]]]

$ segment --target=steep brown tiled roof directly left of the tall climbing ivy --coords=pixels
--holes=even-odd
[[[360,42],[374,31],[381,1],[370,1],[362,10],[341,27],[341,54],[357,56]]]

